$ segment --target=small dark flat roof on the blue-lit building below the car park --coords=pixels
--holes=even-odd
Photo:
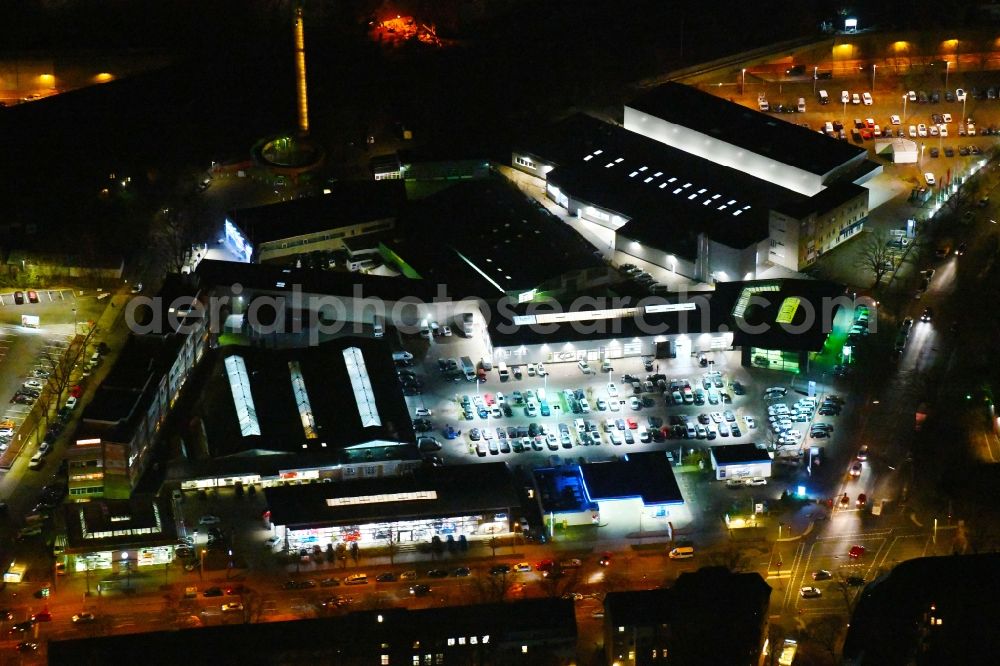
[[[630,453],[625,460],[580,466],[590,499],[639,497],[646,506],[683,504],[674,470],[662,451]]]

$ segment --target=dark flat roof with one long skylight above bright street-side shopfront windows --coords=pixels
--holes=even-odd
[[[328,499],[433,493],[426,499],[331,506]],[[305,528],[510,511],[520,504],[506,463],[421,467],[412,474],[265,488],[276,525]]]

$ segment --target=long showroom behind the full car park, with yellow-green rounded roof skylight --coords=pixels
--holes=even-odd
[[[844,287],[819,280],[720,283],[714,291],[504,305],[488,322],[494,362],[690,358],[740,349],[744,365],[798,372],[851,307]]]

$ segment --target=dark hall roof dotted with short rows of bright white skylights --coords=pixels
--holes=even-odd
[[[773,206],[806,199],[594,118],[577,116],[564,122],[580,135],[573,139],[565,131],[554,132],[556,137],[565,136],[567,145],[553,150],[560,166],[549,172],[548,182],[574,198],[629,218],[620,233],[656,248],[691,256],[698,234],[706,233],[742,249],[767,237]],[[555,144],[550,140],[532,152]],[[594,155],[597,150],[601,153]]]

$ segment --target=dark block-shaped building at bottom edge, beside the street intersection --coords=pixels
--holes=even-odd
[[[608,592],[606,663],[756,666],[771,588],[757,573],[706,567],[669,589]]]

